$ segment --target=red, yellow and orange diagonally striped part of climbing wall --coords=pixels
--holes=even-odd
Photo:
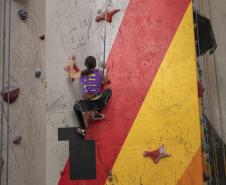
[[[191,1],[129,1],[112,44],[112,100],[105,121],[90,125],[86,136],[96,143],[96,178],[71,180],[62,155],[58,184],[203,184]],[[171,158],[154,164],[143,157],[163,144]]]

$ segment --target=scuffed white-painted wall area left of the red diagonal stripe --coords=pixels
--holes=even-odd
[[[128,0],[109,1],[109,9],[120,8],[111,24],[107,24],[108,56],[119,25],[127,8]],[[73,104],[81,98],[78,81],[68,80],[63,70],[71,54],[84,69],[84,60],[93,55],[100,66],[103,58],[103,22],[96,23],[98,12],[105,10],[104,1],[50,0],[46,4],[47,31],[47,141],[46,184],[57,184],[60,171],[68,158],[68,142],[57,141],[59,127],[75,126],[77,120]]]

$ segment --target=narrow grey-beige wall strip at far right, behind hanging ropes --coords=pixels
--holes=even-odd
[[[221,123],[220,123],[220,113],[222,114],[222,128],[223,133],[226,135],[226,78],[225,78],[225,49],[226,49],[226,37],[225,37],[225,29],[226,29],[226,3],[223,0],[219,1],[203,1],[203,0],[195,0],[194,6],[199,12],[206,16],[207,18],[211,18],[211,23],[213,27],[213,31],[215,34],[217,49],[215,51],[215,63],[214,65],[214,55],[206,55],[205,57],[199,57],[198,61],[200,63],[202,69],[202,80],[204,83],[205,96],[204,96],[204,108],[205,113],[208,115],[210,120],[213,123],[214,128],[218,132],[218,134],[222,137],[221,134]],[[205,65],[208,69],[205,72]],[[215,71],[216,69],[216,71]],[[217,76],[217,79],[216,79]],[[207,81],[206,81],[207,79]],[[216,81],[217,80],[217,81]],[[207,82],[207,83],[206,83]],[[217,84],[219,91],[219,102],[217,95]],[[209,103],[207,91],[209,88]],[[220,108],[219,109],[219,104]],[[212,114],[211,115],[209,115]],[[211,118],[212,117],[212,118]],[[226,143],[226,136],[224,136],[224,142]]]

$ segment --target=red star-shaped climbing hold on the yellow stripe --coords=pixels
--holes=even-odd
[[[144,157],[150,157],[154,161],[154,163],[158,163],[160,159],[165,157],[171,157],[170,154],[166,153],[166,149],[164,145],[160,146],[158,149],[154,151],[145,151]]]

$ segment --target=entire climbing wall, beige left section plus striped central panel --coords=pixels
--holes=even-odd
[[[192,6],[0,0],[1,185],[203,185]],[[85,137],[72,55],[75,76],[94,56],[111,81]]]

